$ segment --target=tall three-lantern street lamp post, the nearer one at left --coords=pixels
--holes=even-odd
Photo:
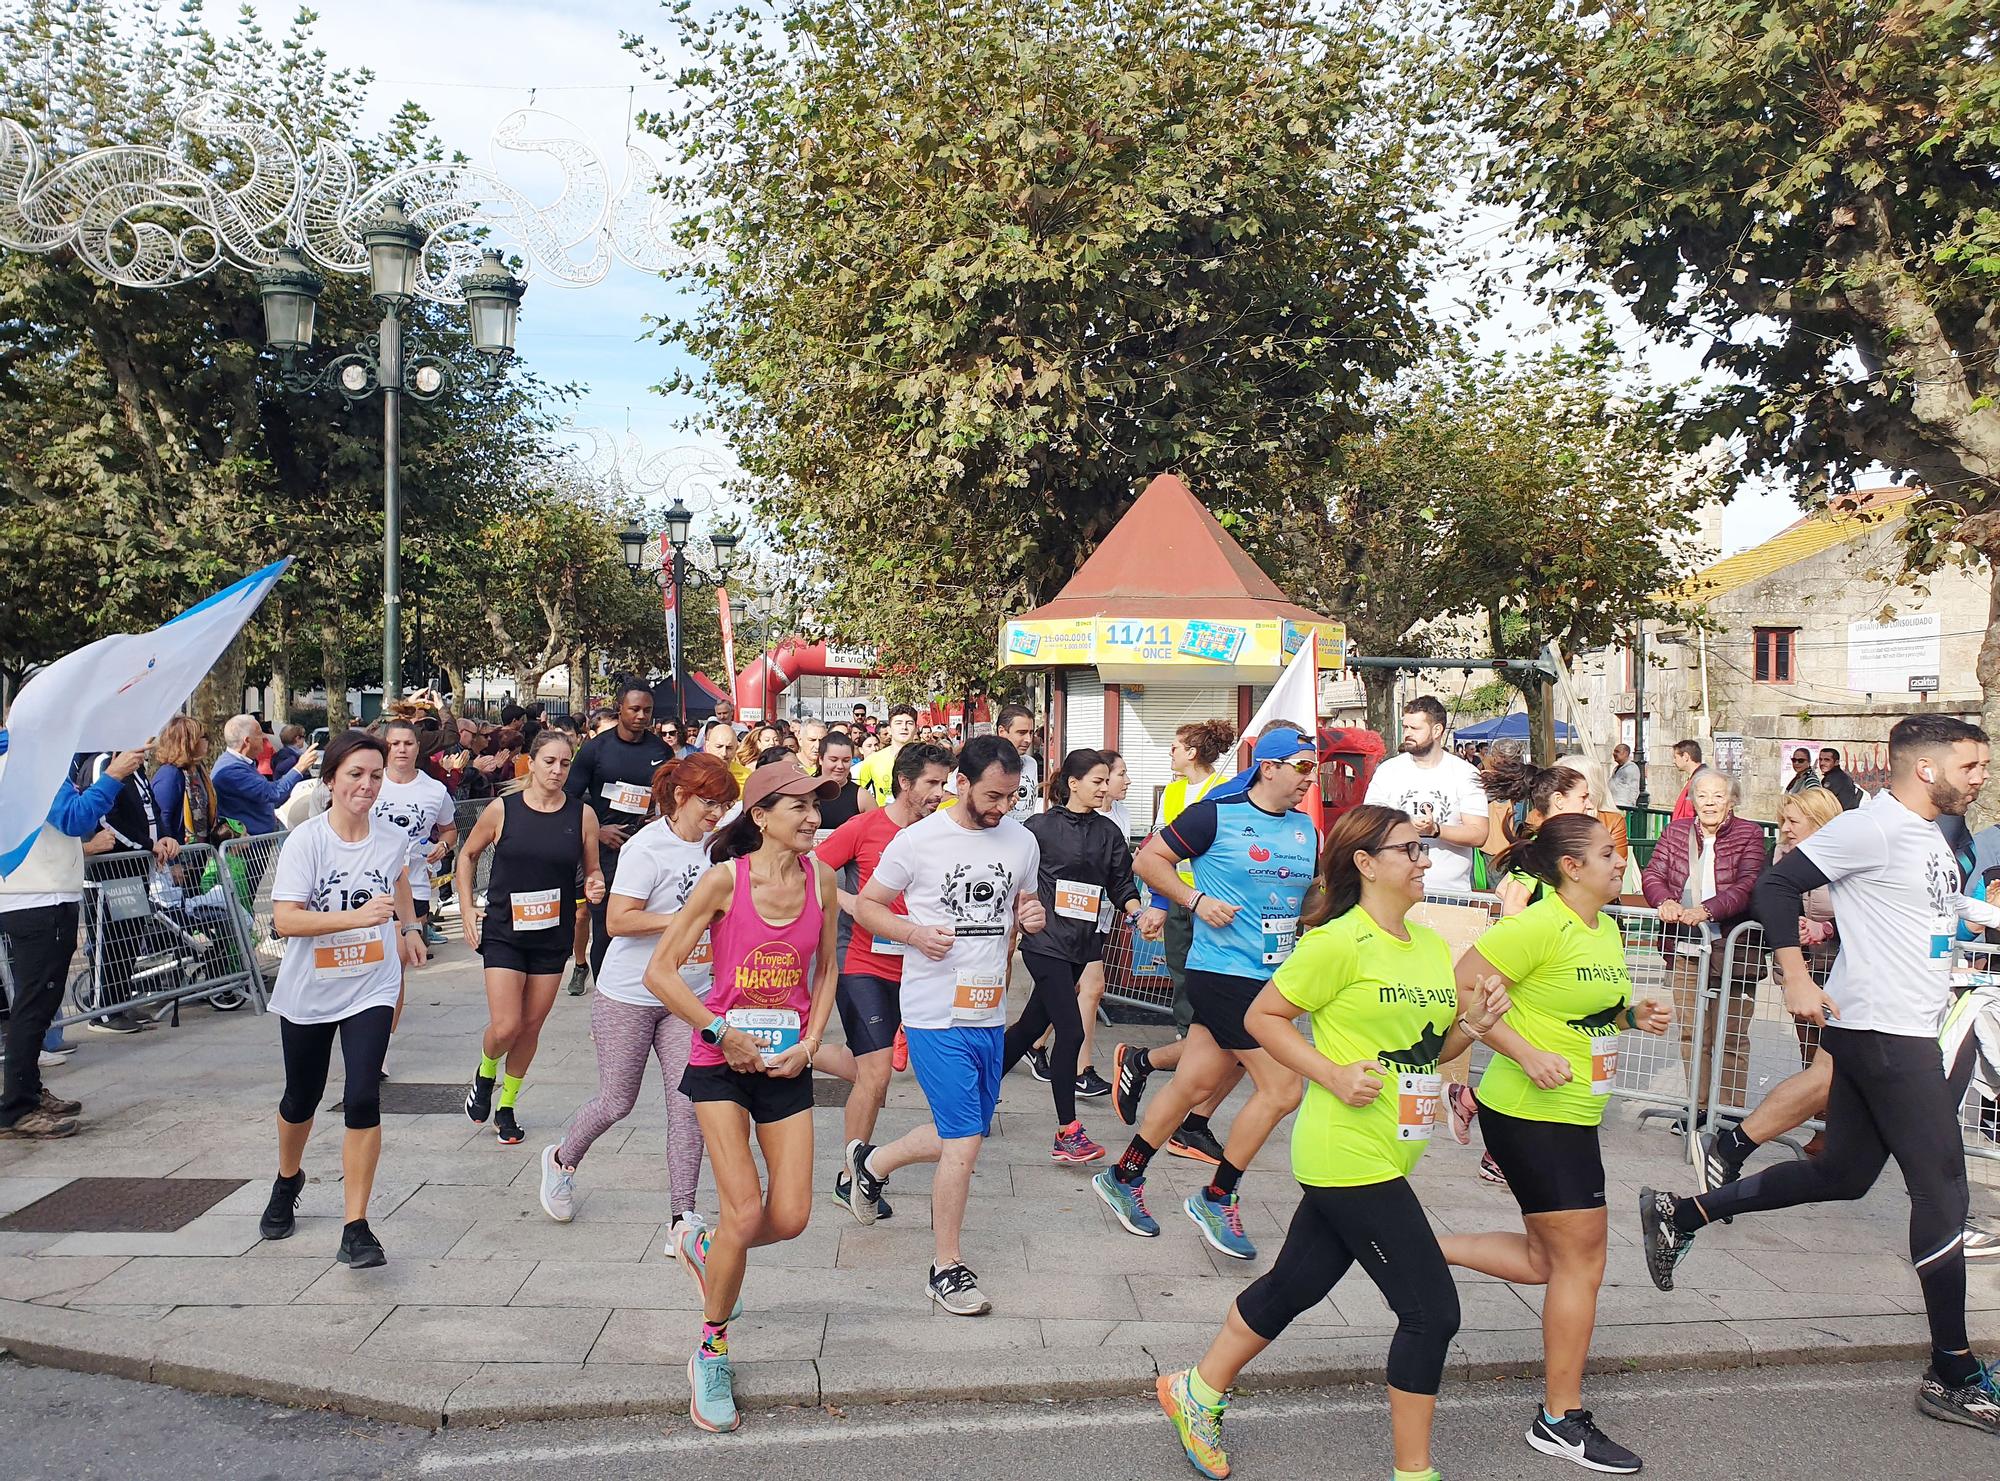
[[[264,338],[280,356],[280,384],[310,392],[334,388],[350,402],[382,392],[382,704],[402,694],[402,398],[436,400],[450,368],[436,356],[404,358],[404,314],[418,290],[424,232],[400,200],[360,230],[368,248],[370,296],[382,310],[376,350],[356,348],[324,370],[300,370],[298,356],[312,348],[312,326],[324,282],[304,258],[284,248],[278,266],[256,274],[264,298]],[[498,378],[514,358],[514,328],[526,284],[508,272],[494,250],[462,282],[472,348],[486,360],[486,380]]]

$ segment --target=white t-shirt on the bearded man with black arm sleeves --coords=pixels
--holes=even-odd
[[[1934,1037],[1952,1003],[1958,865],[1938,825],[1888,789],[1798,845],[1832,887],[1840,1029]]]

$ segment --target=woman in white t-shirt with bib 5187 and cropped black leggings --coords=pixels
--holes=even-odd
[[[402,995],[404,967],[422,967],[424,929],[410,901],[410,839],[374,817],[388,747],[348,730],[326,749],[332,807],[300,825],[278,853],[272,923],[284,939],[270,1011],[284,1045],[284,1099],[278,1103],[278,1181],[258,1233],[290,1239],[300,1159],[340,1035],[346,1065],[340,1147],[346,1227],[336,1259],[354,1269],[382,1265],[382,1241],[368,1229],[368,1195],[382,1157],[382,1057]]]

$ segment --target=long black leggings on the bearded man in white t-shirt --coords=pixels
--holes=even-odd
[[[1910,1191],[1910,1263],[1924,1287],[1930,1341],[1946,1353],[1966,1351],[1966,1153],[1958,1139],[1958,1103],[1972,1073],[1960,1055],[1946,1077],[1938,1041],[1842,1029],[1828,1023],[1820,1039],[1834,1057],[1826,1097],[1826,1151],[1778,1163],[1740,1183],[1700,1197],[1710,1219],[1800,1203],[1860,1199],[1896,1159]]]

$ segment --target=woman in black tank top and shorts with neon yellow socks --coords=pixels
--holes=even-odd
[[[584,899],[592,905],[604,899],[598,819],[582,799],[564,795],[570,745],[570,736],[556,726],[538,730],[528,747],[528,781],[488,803],[472,825],[466,847],[458,851],[454,883],[462,901],[478,899],[474,881],[480,855],[494,851],[484,917],[478,909],[464,911],[460,927],[466,945],[486,963],[486,1035],[480,1041],[480,1067],[466,1091],[466,1115],[480,1125],[492,1115],[502,1147],[512,1147],[526,1135],[514,1117],[514,1105],[542,1041],[542,1023],[556,1005],[562,967],[570,959],[578,869],[584,875]],[[492,1105],[496,1079],[498,1111]]]

